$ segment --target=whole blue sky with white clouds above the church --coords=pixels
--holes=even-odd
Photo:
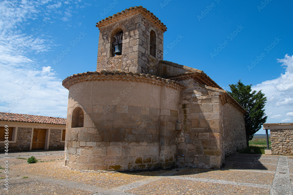
[[[268,123],[293,122],[289,0],[0,1],[0,111],[66,117],[62,80],[96,70],[95,24],[139,5],[168,28],[164,60],[203,70],[225,90],[252,84],[268,97]]]

